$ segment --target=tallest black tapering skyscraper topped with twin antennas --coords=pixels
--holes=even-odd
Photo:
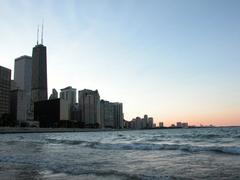
[[[32,103],[48,99],[47,90],[47,48],[43,45],[43,28],[41,44],[32,52]]]

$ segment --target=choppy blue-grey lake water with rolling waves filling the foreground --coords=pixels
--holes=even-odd
[[[2,134],[0,179],[240,179],[240,128]]]

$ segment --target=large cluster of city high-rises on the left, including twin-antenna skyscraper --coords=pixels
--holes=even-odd
[[[56,89],[48,98],[47,48],[41,43],[32,57],[15,59],[14,79],[11,70],[0,66],[0,126],[30,127],[124,127],[123,104],[100,99],[98,90],[68,86]]]

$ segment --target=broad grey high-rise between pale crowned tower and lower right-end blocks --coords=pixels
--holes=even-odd
[[[100,96],[98,90],[84,89],[78,92],[80,121],[85,127],[101,127]]]

